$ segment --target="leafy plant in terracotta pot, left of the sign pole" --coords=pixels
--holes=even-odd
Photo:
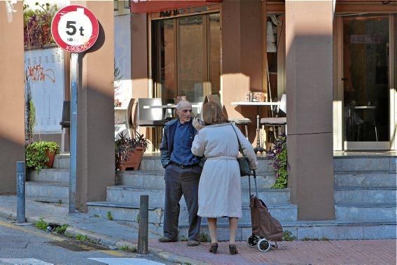
[[[25,148],[27,169],[40,171],[52,168],[55,155],[60,153],[60,145],[50,141],[29,143]]]

